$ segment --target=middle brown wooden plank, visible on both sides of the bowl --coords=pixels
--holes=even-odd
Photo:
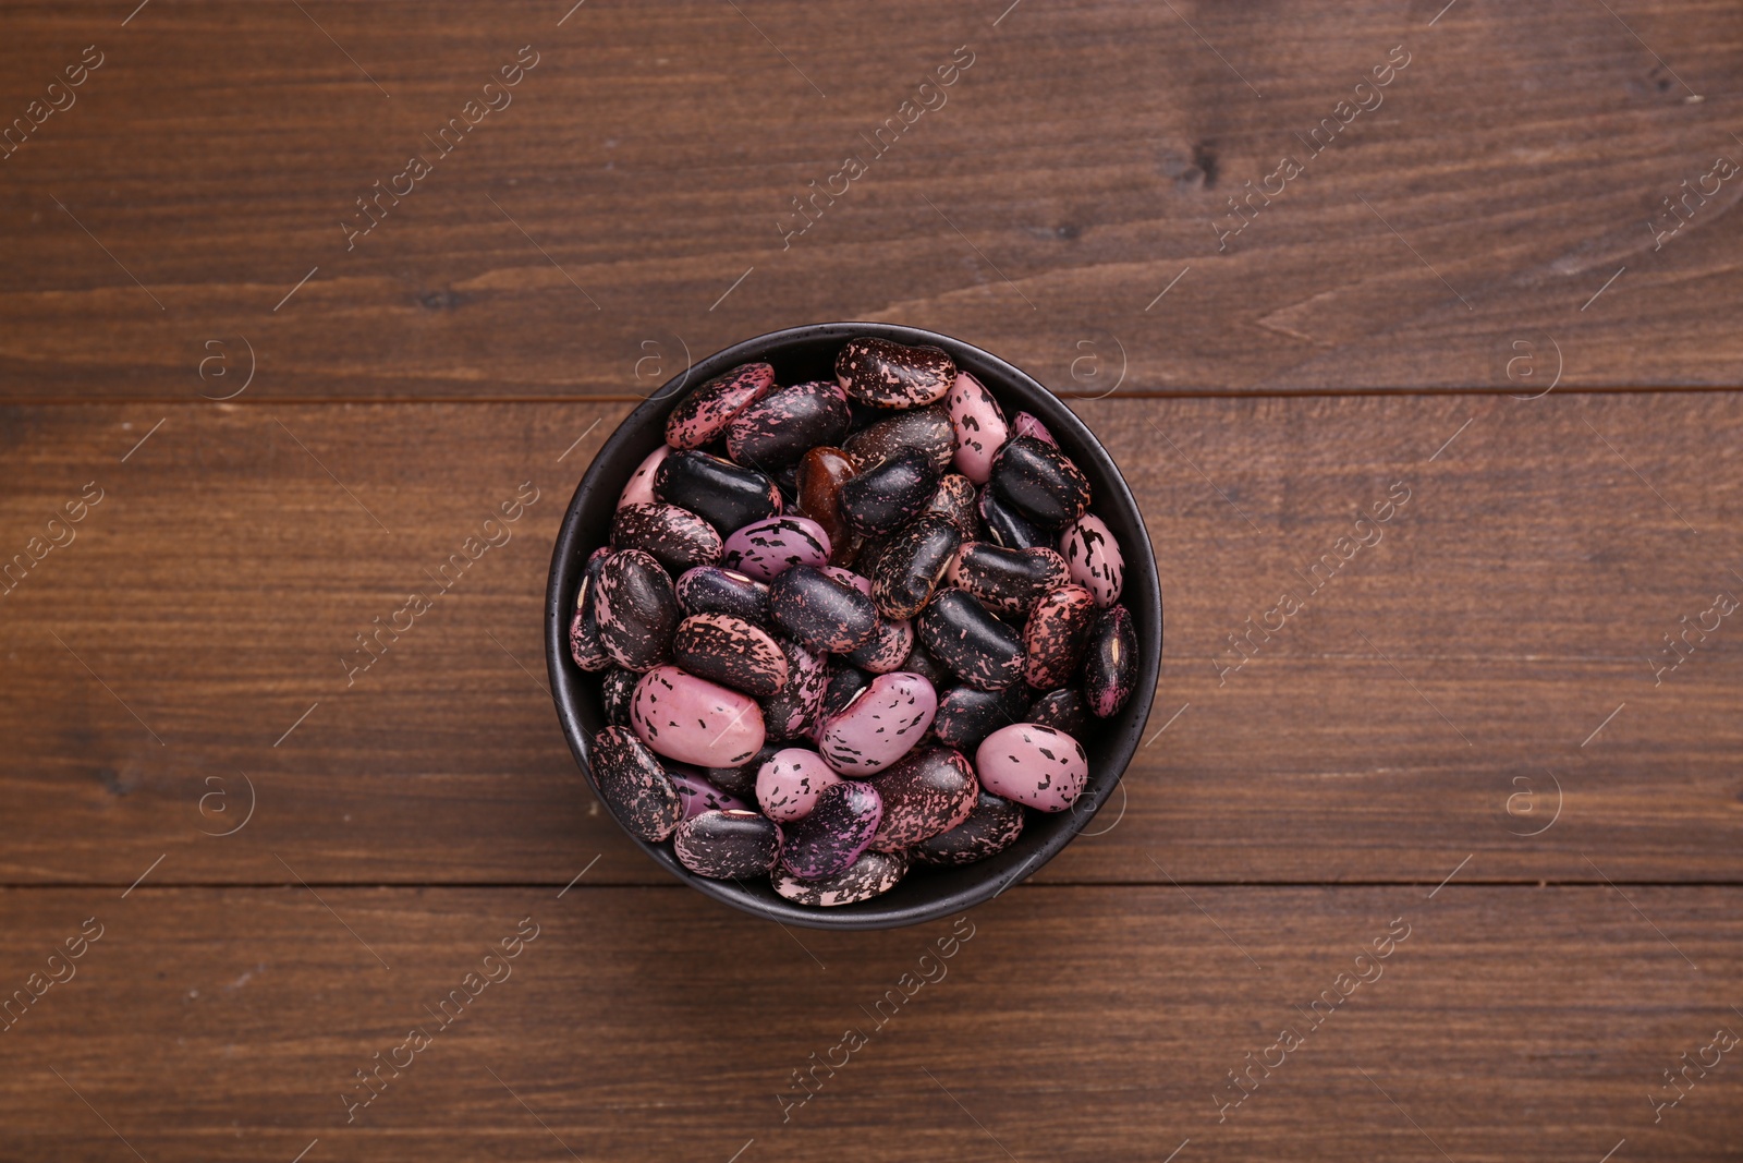
[[[657,884],[542,687],[547,547],[624,411],[9,408],[9,554],[87,481],[105,499],[0,598],[0,881],[124,888],[164,856],[169,884],[563,886],[598,856],[589,882]],[[1163,570],[1152,736],[1187,710],[1042,879],[1434,884],[1468,854],[1478,881],[1743,877],[1733,619],[1658,682],[1647,661],[1743,586],[1743,398],[1081,413]],[[354,636],[525,481],[512,539],[347,685]],[[1400,481],[1309,593],[1295,570]],[[1283,589],[1306,609],[1229,671]]]

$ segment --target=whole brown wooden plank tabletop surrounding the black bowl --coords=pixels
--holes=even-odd
[[[1743,1153],[1734,3],[134,2],[0,14],[0,1158]],[[955,922],[669,882],[546,690],[612,425],[823,319],[1074,398],[1163,570]]]

